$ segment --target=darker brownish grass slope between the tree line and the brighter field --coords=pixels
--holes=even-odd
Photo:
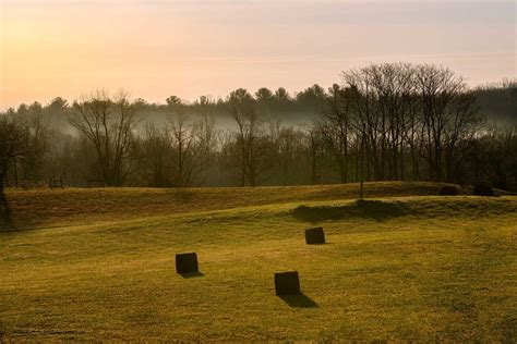
[[[436,195],[441,184],[366,183],[368,197]],[[468,191],[465,191],[468,192]],[[358,184],[296,187],[37,189],[8,194],[15,229],[139,219],[281,202],[357,198]]]

